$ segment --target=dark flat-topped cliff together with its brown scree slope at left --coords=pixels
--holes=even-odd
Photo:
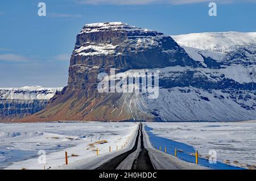
[[[176,65],[201,66],[163,33],[123,23],[85,25],[77,35],[68,86],[49,101],[46,110],[27,120],[134,120],[132,111],[127,108],[127,96],[98,94],[98,74],[109,73],[110,68],[118,73]],[[118,107],[119,112],[113,112],[113,107]],[[154,120],[154,115],[144,111],[137,111],[136,115],[139,115],[136,119]]]

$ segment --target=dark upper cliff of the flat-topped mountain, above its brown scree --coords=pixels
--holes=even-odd
[[[122,72],[175,65],[199,66],[170,36],[123,23],[89,24],[77,35],[68,90],[88,89],[98,73],[110,68]]]

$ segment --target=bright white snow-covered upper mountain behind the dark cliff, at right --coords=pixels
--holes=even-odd
[[[191,33],[171,37],[205,67],[256,64],[256,32]]]

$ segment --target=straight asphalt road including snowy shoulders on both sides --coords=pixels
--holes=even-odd
[[[144,125],[140,123],[129,144],[122,150],[100,154],[95,159],[81,159],[53,169],[67,170],[199,170],[208,169],[181,161],[152,147]]]

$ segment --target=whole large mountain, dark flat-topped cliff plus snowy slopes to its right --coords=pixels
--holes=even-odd
[[[256,118],[255,33],[166,36],[121,22],[86,24],[68,86],[23,121],[238,121]],[[99,73],[159,72],[159,97],[100,93]],[[111,77],[109,77],[111,79]]]

